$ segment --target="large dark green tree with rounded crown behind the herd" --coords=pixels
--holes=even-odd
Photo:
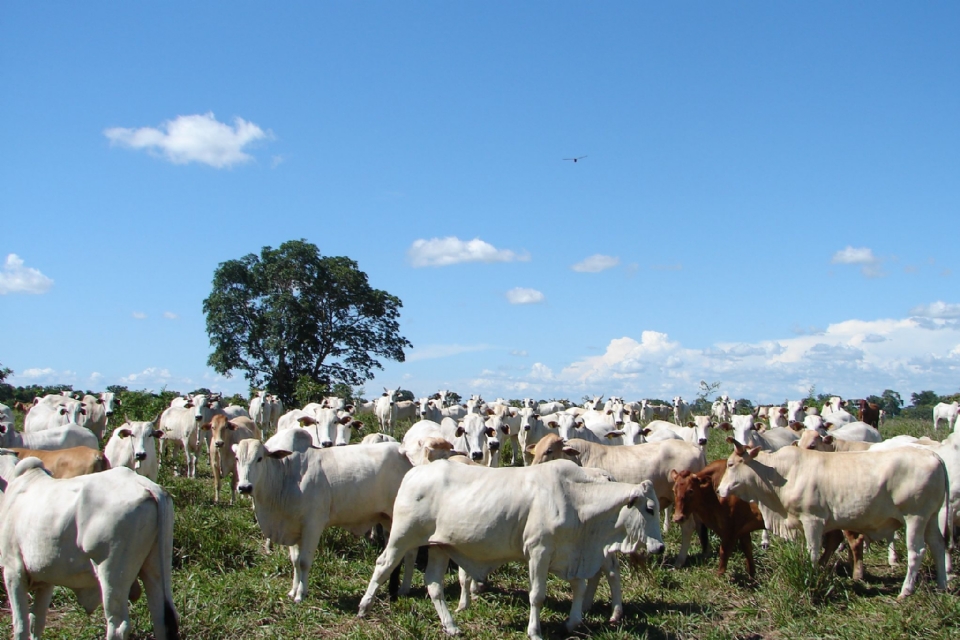
[[[324,257],[305,240],[264,247],[213,274],[203,301],[207,362],[224,375],[243,371],[285,403],[304,376],[329,388],[358,386],[383,368],[377,358],[403,362],[411,344],[400,335],[402,306],[349,258]]]

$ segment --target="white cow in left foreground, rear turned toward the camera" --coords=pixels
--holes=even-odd
[[[37,458],[20,462],[12,476],[0,507],[0,562],[14,638],[40,638],[57,585],[73,590],[88,613],[103,604],[106,637],[127,638],[127,599],[140,593],[138,578],[154,636],[179,637],[173,501],[161,487],[127,468],[54,480]]]

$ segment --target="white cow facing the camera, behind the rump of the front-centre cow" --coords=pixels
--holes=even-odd
[[[412,468],[394,443],[291,453],[243,440],[233,450],[237,490],[253,496],[260,530],[273,543],[290,547],[293,586],[287,595],[294,602],[307,593],[323,530],[339,526],[357,536],[378,524],[389,530],[400,481]],[[413,570],[414,558],[409,560],[404,591]]]

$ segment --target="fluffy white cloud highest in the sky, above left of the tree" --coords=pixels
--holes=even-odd
[[[141,127],[127,129],[113,127],[103,132],[110,143],[131,149],[146,149],[174,164],[200,162],[222,169],[253,156],[244,152],[244,147],[259,140],[273,138],[243,118],[234,118],[234,126],[218,122],[213,113],[177,116],[167,120],[160,128]]]

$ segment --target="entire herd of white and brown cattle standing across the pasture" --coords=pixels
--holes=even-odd
[[[402,402],[398,392],[385,389],[362,406],[331,397],[286,412],[263,392],[248,408],[224,406],[218,395],[181,397],[154,420],[125,419],[102,451],[120,404],[113,394],[18,403],[23,433],[0,405],[0,562],[14,638],[41,636],[55,585],[72,589],[88,612],[103,605],[108,639],[128,636],[128,602],[141,592],[156,637],[179,637],[173,502],[156,480],[161,457],[173,473],[194,477],[201,443],[215,500],[229,478],[230,502],[237,491],[250,496],[267,542],[290,547],[295,602],[306,594],[325,528],[363,536],[379,525],[388,533],[360,617],[401,563],[399,593],[409,591],[414,558],[426,547],[424,583],[448,634],[458,633],[443,596],[451,560],[459,567],[458,611],[497,567],[526,562],[530,638],[540,638],[548,573],[570,582],[570,630],[604,577],[617,621],[616,554],[661,553],[664,509],[664,528],[672,522],[681,530],[677,567],[695,532],[707,551],[709,528],[721,541],[719,572],[739,546],[752,577],[750,534],[760,530],[765,544],[768,532],[802,533],[814,562],[846,541],[862,579],[864,543],[892,541],[905,528],[900,597],[914,591],[924,555],[937,587],[946,588],[947,545],[960,525],[956,402],[934,410],[934,428],[945,419],[952,430],[940,442],[883,440],[882,412],[863,400],[832,398],[820,409],[791,401],[737,415],[736,403],[721,396],[710,415],[697,416],[679,397],[654,406],[599,396],[581,407],[528,398],[517,407],[479,396],[453,404],[443,391]],[[356,417],[363,411],[376,415],[380,430],[351,444],[364,430]],[[415,423],[398,441],[404,418]],[[708,463],[709,429],[729,434],[728,459]],[[509,464],[501,466],[508,442]],[[890,554],[896,562],[892,542]]]

